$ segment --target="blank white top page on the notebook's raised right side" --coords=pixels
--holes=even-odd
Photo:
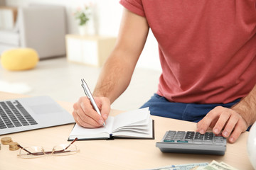
[[[138,122],[144,122],[147,120],[149,116],[149,108],[141,108],[135,111],[128,111],[125,113],[121,113],[114,117],[114,123],[112,130],[116,130],[117,128],[128,126],[128,125],[136,125]],[[144,121],[143,121],[144,120]]]

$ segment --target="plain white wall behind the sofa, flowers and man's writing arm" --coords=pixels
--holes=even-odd
[[[94,16],[97,33],[99,35],[117,36],[123,8],[119,4],[119,0],[6,0],[6,5],[26,6],[31,3],[37,3],[65,6],[67,9],[68,33],[78,33],[78,24],[74,19],[73,12],[79,6],[90,2],[95,5]],[[161,70],[157,42],[151,32],[137,67]]]

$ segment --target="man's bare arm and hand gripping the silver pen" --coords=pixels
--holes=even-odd
[[[102,117],[93,110],[88,98],[81,97],[73,106],[73,117],[78,125],[96,128],[107,120],[110,104],[127,89],[132,79],[148,33],[146,18],[124,8],[117,43],[102,68],[93,92]]]

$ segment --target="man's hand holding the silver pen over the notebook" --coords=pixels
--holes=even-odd
[[[101,115],[94,109],[90,100],[84,96],[74,103],[73,117],[78,125],[85,128],[98,128],[107,120],[110,114],[110,99],[106,97],[94,97]]]

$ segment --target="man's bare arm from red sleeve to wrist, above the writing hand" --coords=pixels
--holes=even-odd
[[[94,96],[105,96],[112,103],[127,89],[148,33],[146,18],[124,9],[117,44],[102,68]]]

